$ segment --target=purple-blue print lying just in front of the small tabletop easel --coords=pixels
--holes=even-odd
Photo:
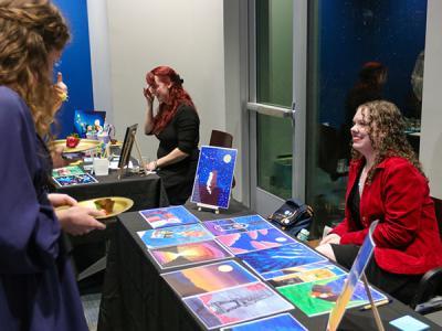
[[[214,236],[272,227],[272,225],[260,215],[206,221],[203,224]]]

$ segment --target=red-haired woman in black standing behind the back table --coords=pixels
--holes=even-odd
[[[147,170],[157,170],[171,204],[183,204],[192,193],[198,164],[200,119],[183,81],[168,66],[158,66],[146,75],[147,100],[145,134],[159,140],[157,160]],[[154,98],[159,105],[154,116]]]

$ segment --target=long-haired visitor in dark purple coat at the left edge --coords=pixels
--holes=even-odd
[[[48,0],[1,1],[0,31],[0,329],[87,330],[63,231],[104,228],[103,213],[48,194],[44,142],[62,103],[52,67],[70,33]]]

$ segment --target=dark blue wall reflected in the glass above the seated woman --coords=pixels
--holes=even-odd
[[[388,67],[385,97],[406,109],[411,73],[425,43],[425,0],[319,2],[319,121],[339,127],[364,63]]]

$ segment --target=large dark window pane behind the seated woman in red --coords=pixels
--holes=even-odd
[[[344,217],[349,128],[357,106],[375,98],[391,100],[410,118],[409,131],[420,130],[427,1],[309,4],[306,180],[314,232],[320,235],[325,224]],[[379,65],[386,75],[378,74]],[[419,149],[415,136],[410,140]]]

